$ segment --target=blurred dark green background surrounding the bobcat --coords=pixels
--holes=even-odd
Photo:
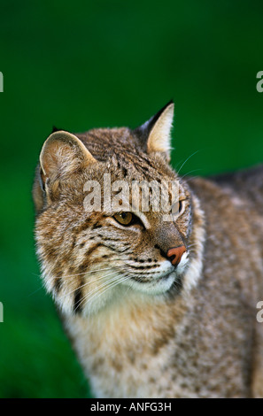
[[[181,173],[262,162],[262,18],[261,0],[1,1],[0,397],[89,397],[35,259],[31,186],[52,126],[136,127],[174,98]]]

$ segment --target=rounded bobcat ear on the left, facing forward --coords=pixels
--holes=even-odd
[[[43,179],[73,173],[96,162],[77,136],[63,130],[48,137],[40,154]]]

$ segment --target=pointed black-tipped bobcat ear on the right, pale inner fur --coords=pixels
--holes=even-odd
[[[174,102],[170,101],[143,126],[135,129],[135,133],[146,142],[148,153],[159,151],[170,159],[173,119]]]

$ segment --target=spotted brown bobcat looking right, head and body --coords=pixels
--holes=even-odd
[[[44,286],[96,397],[263,397],[263,166],[179,177],[173,118],[170,102],[134,130],[55,131],[43,144],[34,200]],[[174,181],[174,221],[152,204],[87,212],[85,183],[102,186],[105,173]]]

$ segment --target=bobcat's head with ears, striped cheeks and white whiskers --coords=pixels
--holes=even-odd
[[[202,213],[168,165],[173,116],[169,103],[134,130],[56,131],[43,144],[37,253],[64,312],[89,315],[124,293],[176,296],[195,281]]]

